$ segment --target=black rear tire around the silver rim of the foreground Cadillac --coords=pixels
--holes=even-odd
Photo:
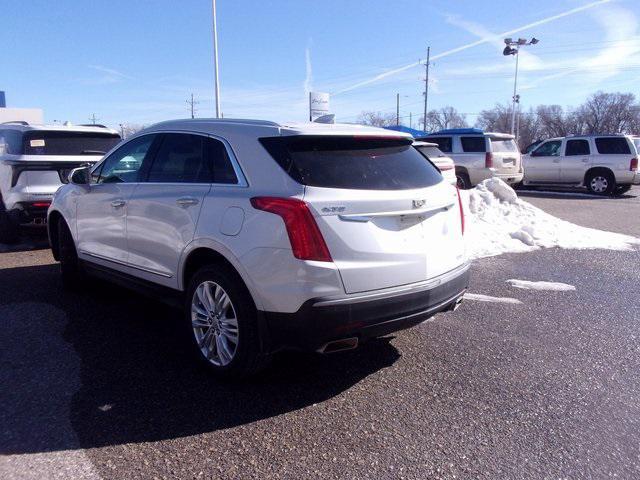
[[[237,323],[237,344],[231,361],[227,364],[216,364],[215,358],[208,358],[201,350],[196,339],[196,330],[192,325],[192,302],[197,301],[194,300],[197,298],[195,297],[196,289],[204,282],[213,282],[222,287],[231,301],[232,316]],[[253,298],[240,277],[229,268],[213,264],[198,270],[189,280],[184,311],[183,327],[188,349],[194,359],[200,365],[205,366],[214,376],[224,379],[239,379],[260,371],[268,364],[269,356],[261,348],[261,329]],[[214,341],[215,338],[212,339],[212,343]],[[227,343],[227,345],[229,344]],[[216,353],[212,355],[215,356]]]

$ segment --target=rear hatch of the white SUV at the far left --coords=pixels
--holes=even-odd
[[[53,194],[67,183],[71,170],[94,165],[119,141],[120,136],[112,132],[26,131],[16,151],[7,152],[11,185],[22,185],[30,193]]]

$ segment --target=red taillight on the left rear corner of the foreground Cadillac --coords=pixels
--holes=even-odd
[[[305,202],[297,198],[253,197],[251,205],[282,217],[294,257],[300,260],[332,261],[318,224]]]

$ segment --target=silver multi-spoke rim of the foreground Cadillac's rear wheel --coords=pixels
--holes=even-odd
[[[200,352],[211,363],[231,363],[238,348],[238,319],[227,292],[215,282],[205,281],[191,300],[191,325]]]

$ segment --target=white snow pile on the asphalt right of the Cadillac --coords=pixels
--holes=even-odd
[[[640,249],[640,239],[580,227],[534,207],[498,178],[490,178],[460,192],[465,209],[465,237],[469,258],[538,248]]]

